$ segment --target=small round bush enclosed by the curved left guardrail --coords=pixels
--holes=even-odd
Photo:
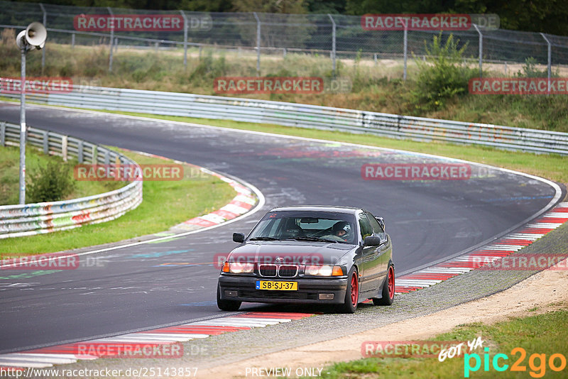
[[[26,203],[56,202],[65,199],[75,189],[68,165],[49,160],[30,175]]]

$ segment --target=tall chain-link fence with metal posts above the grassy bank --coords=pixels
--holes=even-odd
[[[198,13],[190,11],[145,11],[111,7],[55,6],[49,4],[0,1],[0,28],[21,30],[33,21],[48,28],[48,41],[43,51],[42,66],[52,43],[75,45],[105,45],[109,48],[109,70],[113,53],[118,48],[183,49],[187,65],[188,48],[216,48],[256,54],[257,71],[262,71],[262,57],[289,53],[329,56],[335,68],[339,59],[407,60],[425,55],[425,42],[432,41],[439,31],[365,30],[361,16],[337,14],[277,14],[277,13]],[[126,31],[112,28],[88,28],[78,24],[84,16],[100,17],[149,16],[171,17],[177,28],[164,25],[144,26]],[[177,20],[177,21],[176,21]],[[109,24],[105,24],[109,25]],[[168,24],[169,25],[169,24]],[[98,30],[92,30],[98,29]],[[535,65],[553,67],[568,65],[568,37],[491,30],[475,26],[466,31],[444,31],[442,40],[453,35],[459,47],[466,44],[464,56],[484,65],[524,64],[530,59]],[[47,58],[48,59],[48,58]],[[404,70],[406,77],[406,68]]]

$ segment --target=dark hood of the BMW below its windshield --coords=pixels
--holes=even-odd
[[[355,248],[347,243],[255,241],[235,248],[228,259],[242,263],[334,265]]]

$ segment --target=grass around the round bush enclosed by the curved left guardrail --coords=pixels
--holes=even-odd
[[[45,155],[40,150],[27,146],[26,148],[26,179],[29,182],[31,177],[38,171],[40,165],[45,166],[48,161],[55,161],[60,165],[67,166],[70,177],[73,176],[73,166],[76,160],[63,162],[61,157]],[[18,183],[20,165],[20,148],[13,146],[0,147],[0,205],[18,204],[19,192]],[[124,186],[121,182],[87,182],[75,181],[75,189],[68,194],[65,199],[76,199],[77,197],[91,196],[118,189]],[[31,202],[30,199],[26,199]]]

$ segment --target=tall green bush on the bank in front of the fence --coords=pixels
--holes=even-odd
[[[459,40],[449,35],[442,44],[442,33],[432,43],[425,41],[426,60],[416,59],[418,76],[410,97],[415,107],[421,110],[439,109],[444,100],[467,93],[468,82],[477,76],[477,70],[467,67],[464,50],[467,43],[458,48]]]

